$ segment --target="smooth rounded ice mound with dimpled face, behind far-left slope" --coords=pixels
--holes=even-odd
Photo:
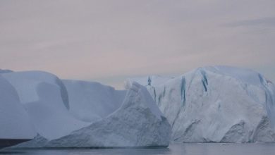
[[[68,94],[61,80],[51,73],[26,71],[1,74],[13,85],[35,131],[47,140],[68,135],[89,123],[68,112]]]

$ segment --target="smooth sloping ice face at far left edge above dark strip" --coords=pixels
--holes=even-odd
[[[16,89],[0,75],[0,139],[32,139],[36,132]]]

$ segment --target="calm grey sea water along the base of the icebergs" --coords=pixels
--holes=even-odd
[[[23,149],[0,150],[0,154],[39,154],[39,155],[275,155],[275,143],[264,144],[219,144],[219,143],[189,143],[171,144],[168,148],[159,149]]]

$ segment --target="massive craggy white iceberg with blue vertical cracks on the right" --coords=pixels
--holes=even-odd
[[[176,142],[275,141],[274,85],[252,70],[197,68],[147,89]]]

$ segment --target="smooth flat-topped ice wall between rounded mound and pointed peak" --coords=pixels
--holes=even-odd
[[[90,123],[116,111],[126,95],[126,90],[115,90],[99,82],[62,81],[68,92],[70,113]]]

